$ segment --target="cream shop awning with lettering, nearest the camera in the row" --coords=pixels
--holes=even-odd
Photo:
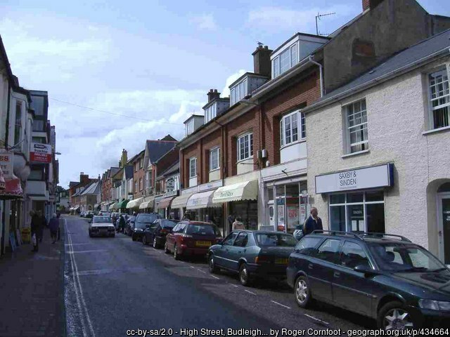
[[[222,204],[224,202],[239,200],[256,200],[258,197],[258,180],[245,181],[228,186],[219,187],[214,192],[212,202]]]

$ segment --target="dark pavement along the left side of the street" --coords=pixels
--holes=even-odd
[[[63,258],[63,232],[51,244],[48,229],[37,253],[23,244],[0,258],[1,337],[65,336]]]

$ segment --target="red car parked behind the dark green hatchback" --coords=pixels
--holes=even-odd
[[[183,220],[166,236],[164,251],[174,253],[175,260],[184,256],[206,256],[208,249],[221,240],[214,223]]]

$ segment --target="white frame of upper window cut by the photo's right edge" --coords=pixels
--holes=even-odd
[[[432,87],[435,86],[437,87],[439,84],[432,84],[433,79],[431,79],[432,75],[440,75],[442,76],[442,82],[439,82],[439,84],[442,84],[443,86],[443,91],[442,91],[442,95],[436,95],[435,97],[433,97],[433,93],[432,93]],[[436,130],[438,128],[447,128],[450,126],[450,92],[449,92],[449,86],[450,86],[450,81],[449,81],[449,70],[445,67],[442,70],[438,70],[437,72],[430,72],[428,74],[428,103],[430,105],[430,110],[429,110],[429,126],[430,126],[430,130]],[[437,93],[439,92],[439,88],[437,88]],[[446,100],[447,102],[441,102],[441,104],[436,105],[435,107],[433,107],[433,102],[437,101],[439,103],[439,100]],[[435,125],[435,110],[439,110],[442,108],[447,108],[447,113],[446,113],[446,125],[444,126],[436,126]],[[445,118],[445,117],[444,117]]]

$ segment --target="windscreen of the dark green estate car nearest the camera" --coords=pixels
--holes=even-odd
[[[397,242],[370,242],[375,262],[381,270],[392,272],[432,272],[445,266],[432,254],[415,244]]]

